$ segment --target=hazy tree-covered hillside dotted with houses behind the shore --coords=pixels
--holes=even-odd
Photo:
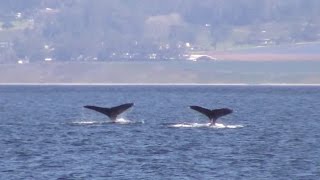
[[[181,59],[319,40],[319,0],[0,1],[2,63]]]

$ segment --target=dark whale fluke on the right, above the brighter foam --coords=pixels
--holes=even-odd
[[[213,109],[213,110],[206,109],[200,106],[190,106],[190,108],[207,116],[211,122],[211,125],[214,125],[216,123],[216,120],[219,117],[232,113],[232,110],[228,108]]]

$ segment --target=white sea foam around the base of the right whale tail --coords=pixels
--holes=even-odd
[[[180,124],[173,124],[169,127],[175,127],[175,128],[215,128],[215,129],[222,129],[222,128],[242,128],[243,125],[225,125],[225,124],[219,124],[216,123],[215,125],[210,125],[210,123],[180,123]]]

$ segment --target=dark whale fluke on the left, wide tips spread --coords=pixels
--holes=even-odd
[[[98,106],[83,106],[83,107],[97,111],[104,115],[107,115],[112,121],[115,121],[119,114],[131,108],[133,105],[134,105],[133,103],[127,103],[127,104],[122,104],[122,105],[111,107],[111,108],[98,107]]]

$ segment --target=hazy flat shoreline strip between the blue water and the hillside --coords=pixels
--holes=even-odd
[[[320,61],[0,65],[4,85],[319,85]]]

